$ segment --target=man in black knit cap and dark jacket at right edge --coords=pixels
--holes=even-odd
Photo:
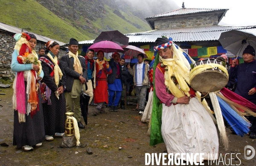
[[[230,68],[230,78],[237,79],[235,93],[256,104],[256,60],[255,50],[248,45],[243,52],[244,63],[236,66],[234,59]],[[256,139],[256,118],[249,117],[252,124],[250,127],[250,138]]]

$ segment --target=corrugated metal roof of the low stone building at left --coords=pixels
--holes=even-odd
[[[14,27],[12,25],[7,25],[7,24],[4,24],[4,23],[0,23],[0,29],[2,29],[4,31],[11,32],[11,33],[14,33],[14,34],[21,33],[20,28]],[[29,31],[24,31],[24,32],[29,32]],[[33,34],[35,34],[35,33],[33,33]],[[65,44],[64,42],[60,42],[60,41],[55,40],[55,39],[50,39],[48,37],[44,37],[44,36],[41,36],[39,34],[35,34],[35,36],[36,36],[37,40],[42,41],[42,42],[48,42],[49,40],[54,40],[54,41],[58,42],[59,45],[64,45]]]

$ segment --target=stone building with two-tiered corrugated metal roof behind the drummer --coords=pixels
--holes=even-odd
[[[125,34],[129,45],[154,47],[157,37],[172,37],[180,48],[188,49],[191,45],[202,47],[221,46],[218,41],[222,32],[239,30],[250,33],[256,26],[221,26],[218,23],[229,9],[182,8],[145,18],[151,31]],[[94,40],[80,41],[80,45],[90,46]]]

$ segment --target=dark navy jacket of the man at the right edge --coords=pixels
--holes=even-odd
[[[236,67],[230,68],[230,78],[237,79],[236,94],[246,98],[256,98],[256,93],[248,95],[249,90],[256,88],[256,60],[244,62]]]

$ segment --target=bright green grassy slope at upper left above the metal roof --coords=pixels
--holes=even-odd
[[[18,28],[26,29],[61,42],[74,37],[79,40],[92,36],[80,32],[65,20],[57,17],[47,8],[34,0],[1,0],[0,20]]]

